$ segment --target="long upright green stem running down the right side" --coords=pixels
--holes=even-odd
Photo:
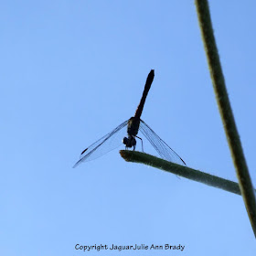
[[[195,3],[197,6],[199,27],[201,29],[201,35],[207,54],[208,68],[213,83],[213,88],[216,94],[216,99],[219,105],[220,116],[224,125],[225,133],[229,143],[229,149],[239,180],[241,195],[243,197],[245,207],[251,220],[251,227],[256,237],[255,194],[251,184],[251,177],[246,164],[246,160],[243,155],[240,143],[240,136],[229,103],[229,96],[226,90],[225,80],[219,61],[219,53],[213,34],[208,1],[196,0]]]

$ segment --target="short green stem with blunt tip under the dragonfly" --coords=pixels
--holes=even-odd
[[[231,180],[221,178],[219,176],[212,176],[207,173],[189,168],[183,165],[176,165],[174,163],[165,161],[162,158],[154,155],[144,154],[138,151],[120,150],[120,155],[127,162],[150,165],[155,168],[164,170],[177,176],[183,176],[188,179],[206,184],[211,187],[217,187],[231,193],[240,195],[240,187],[238,183]]]

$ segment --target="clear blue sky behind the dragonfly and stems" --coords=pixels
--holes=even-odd
[[[210,3],[254,186],[255,8]],[[155,69],[143,120],[188,166],[236,181],[193,1],[2,1],[0,20],[1,255],[255,255],[240,196],[118,149],[72,169],[133,115]],[[112,243],[185,250],[75,250]]]

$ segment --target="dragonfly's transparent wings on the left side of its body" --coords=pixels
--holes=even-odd
[[[120,146],[122,144],[123,136],[127,132],[124,128],[126,127],[128,121],[129,120],[126,120],[125,122],[121,123],[114,130],[112,130],[111,133],[106,134],[100,140],[86,148],[80,154],[80,160],[73,166],[73,168],[80,165],[82,162],[96,159]]]

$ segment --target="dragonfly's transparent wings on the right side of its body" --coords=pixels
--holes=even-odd
[[[147,140],[155,147],[157,153],[167,161],[176,163],[178,165],[186,165],[182,158],[176,154],[165,142],[146,124],[141,120],[139,130],[144,134]]]

